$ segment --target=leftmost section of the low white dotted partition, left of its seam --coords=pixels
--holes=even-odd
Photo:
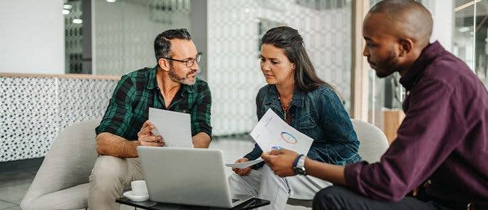
[[[42,157],[58,133],[55,78],[0,78],[0,161]]]

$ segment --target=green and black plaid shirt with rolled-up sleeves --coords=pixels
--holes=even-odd
[[[182,85],[170,107],[166,109],[160,88],[157,87],[157,67],[135,70],[120,78],[96,134],[110,132],[126,140],[137,140],[137,132],[148,119],[149,107],[191,115],[192,136],[205,132],[212,136],[210,106],[212,97],[204,80],[194,85]]]

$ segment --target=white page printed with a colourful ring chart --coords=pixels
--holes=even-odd
[[[311,137],[286,124],[271,109],[266,111],[251,131],[251,137],[264,152],[284,148],[306,155],[313,142]]]

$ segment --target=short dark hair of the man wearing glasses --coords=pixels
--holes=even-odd
[[[191,40],[192,37],[186,28],[170,29],[162,31],[154,40],[154,53],[156,56],[156,63],[160,58],[168,58],[171,51],[171,42],[173,38]]]

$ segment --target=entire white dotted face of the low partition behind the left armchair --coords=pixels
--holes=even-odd
[[[0,77],[0,162],[45,156],[64,127],[103,116],[116,83]]]

